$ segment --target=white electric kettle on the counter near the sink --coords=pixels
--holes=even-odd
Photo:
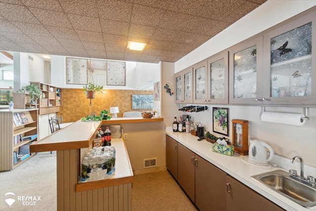
[[[269,157],[267,149],[270,151]],[[259,166],[267,166],[268,162],[271,161],[274,156],[275,153],[269,144],[259,140],[250,140],[249,163]]]

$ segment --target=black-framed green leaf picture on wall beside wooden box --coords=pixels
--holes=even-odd
[[[213,107],[213,132],[229,135],[228,108]]]

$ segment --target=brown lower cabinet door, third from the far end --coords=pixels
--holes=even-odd
[[[196,155],[196,205],[200,211],[226,210],[226,173]]]

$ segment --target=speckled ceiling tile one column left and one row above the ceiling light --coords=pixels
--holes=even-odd
[[[103,33],[113,35],[128,35],[129,23],[100,19]]]

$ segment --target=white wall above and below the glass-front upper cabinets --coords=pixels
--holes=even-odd
[[[177,61],[174,65],[174,72],[179,72],[315,5],[315,0],[268,0],[235,24]],[[164,72],[163,75],[167,74],[165,73],[165,71],[167,71],[166,69],[162,68],[162,71]],[[165,79],[166,77],[163,77],[163,80]],[[174,103],[174,98],[165,96],[163,99],[166,99],[167,102],[163,102],[162,108],[167,109],[168,106],[171,108],[171,111],[166,111],[166,114],[168,114],[168,116],[172,115],[172,117],[168,117],[169,120],[165,121],[166,126],[171,127],[173,120],[170,120],[170,118],[180,116],[184,113],[174,108],[174,105],[180,107],[179,104]],[[207,131],[212,132],[212,107],[226,107],[229,108],[230,124],[232,119],[244,119],[249,121],[249,138],[256,137],[270,143],[276,154],[283,157],[291,159],[296,155],[300,155],[303,157],[305,164],[316,167],[316,108],[309,109],[310,120],[307,121],[304,126],[290,126],[262,122],[260,119],[262,107],[259,106],[208,106],[208,111],[190,113],[194,121],[201,122]],[[269,107],[267,110],[303,113],[303,108]],[[163,113],[163,116],[164,115],[165,113]],[[231,130],[231,128],[230,126],[229,129]],[[232,138],[231,131],[229,137]]]

